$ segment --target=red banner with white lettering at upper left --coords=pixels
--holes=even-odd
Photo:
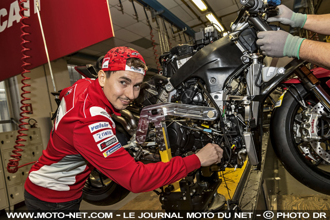
[[[50,60],[76,52],[114,36],[107,0],[28,0],[24,4],[26,24],[26,59],[33,69],[46,64],[47,57],[37,9],[44,29]],[[0,81],[22,72],[21,16],[19,0],[0,1]]]

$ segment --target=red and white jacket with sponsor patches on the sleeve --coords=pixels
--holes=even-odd
[[[147,192],[200,168],[195,154],[168,163],[135,162],[115,136],[110,114],[120,115],[97,80],[81,79],[60,93],[54,127],[46,150],[32,166],[25,190],[46,202],[80,198],[95,167],[129,191]]]

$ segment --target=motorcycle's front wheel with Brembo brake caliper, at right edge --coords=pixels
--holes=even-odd
[[[273,148],[295,179],[315,191],[330,195],[330,141],[326,139],[330,133],[329,112],[301,84],[289,89],[298,99],[300,96],[296,90],[301,93],[306,107],[290,92],[285,93],[282,105],[275,108],[271,120]],[[311,140],[317,136],[325,137],[325,140]]]

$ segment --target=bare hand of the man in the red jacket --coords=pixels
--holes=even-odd
[[[196,156],[201,161],[202,167],[207,167],[212,164],[221,162],[223,150],[217,144],[208,143],[200,151],[196,153]]]

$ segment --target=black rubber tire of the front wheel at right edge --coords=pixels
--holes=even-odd
[[[311,92],[307,92],[301,84],[295,84],[295,86],[305,101],[312,105],[318,103],[316,97]],[[293,88],[291,91],[299,97],[298,92],[294,91]],[[294,99],[291,93],[286,92],[282,105],[273,111],[270,123],[270,138],[274,151],[284,168],[295,179],[319,193],[330,195],[330,172],[320,169],[317,167],[318,165],[315,166],[314,161],[307,160],[306,155],[302,153],[298,146],[299,142],[294,139],[293,125],[296,121],[296,115],[299,114],[298,110],[301,109],[300,107],[301,104]],[[324,166],[330,165],[326,164]]]

